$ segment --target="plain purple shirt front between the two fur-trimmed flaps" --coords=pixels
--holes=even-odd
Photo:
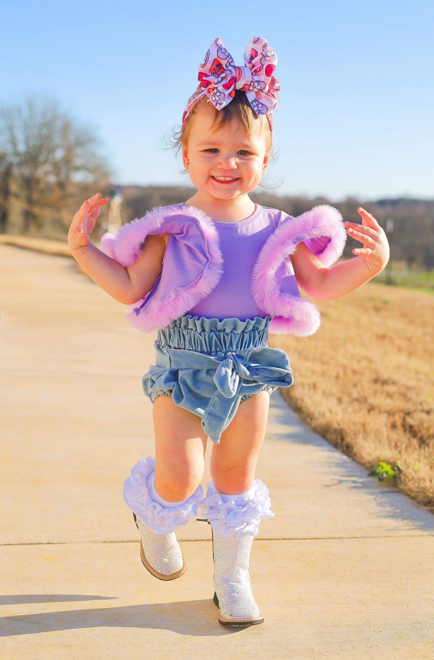
[[[187,314],[206,319],[237,318],[240,321],[264,318],[251,290],[252,271],[264,243],[276,230],[280,212],[256,205],[255,211],[239,222],[212,221],[220,240],[224,271],[220,282]],[[294,278],[294,295],[298,294]]]

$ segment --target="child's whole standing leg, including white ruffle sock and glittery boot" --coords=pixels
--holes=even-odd
[[[269,400],[262,391],[242,401],[220,444],[212,447],[212,484],[202,511],[212,525],[214,603],[225,626],[264,620],[250,587],[249,555],[261,519],[272,515],[268,489],[259,480],[254,484]]]

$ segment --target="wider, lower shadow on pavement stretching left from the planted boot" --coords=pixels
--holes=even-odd
[[[20,614],[0,618],[0,637],[77,628],[149,628],[181,635],[217,637],[243,630],[224,628],[211,599],[102,609]]]

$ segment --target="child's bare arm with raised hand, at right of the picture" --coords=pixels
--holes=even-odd
[[[380,273],[388,262],[387,237],[377,220],[365,209],[357,209],[362,224],[345,222],[349,236],[363,243],[363,248],[353,250],[356,259],[336,263],[325,268],[305,246],[299,243],[291,262],[295,279],[300,288],[315,300],[332,300],[345,296]]]

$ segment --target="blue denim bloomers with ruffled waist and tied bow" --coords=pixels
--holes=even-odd
[[[142,378],[152,403],[161,395],[202,418],[220,442],[239,403],[259,391],[292,385],[288,356],[267,346],[270,317],[240,321],[181,316],[158,331],[155,365]]]

